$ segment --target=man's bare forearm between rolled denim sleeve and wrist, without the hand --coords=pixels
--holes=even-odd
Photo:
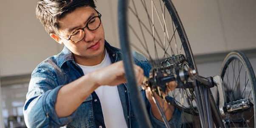
[[[82,104],[98,85],[90,79],[90,74],[63,86],[57,95],[55,111],[58,117],[67,117]]]

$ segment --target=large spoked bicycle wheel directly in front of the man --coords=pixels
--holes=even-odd
[[[149,128],[151,126],[146,108],[136,87],[132,51],[138,51],[149,60],[152,66],[150,73],[157,71],[168,75],[174,74],[173,69],[177,67],[197,71],[193,54],[183,25],[170,0],[119,0],[118,28],[132,107],[136,108],[135,116],[141,126]],[[175,89],[168,93],[174,99],[173,105],[183,111],[183,126],[200,125],[195,124],[198,122],[198,113],[206,115],[202,109],[205,103],[201,99],[204,94],[196,83],[194,82],[195,88]],[[196,97],[195,94],[201,97]],[[197,105],[196,98],[200,105]]]

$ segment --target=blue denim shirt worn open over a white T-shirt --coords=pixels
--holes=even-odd
[[[110,46],[105,41],[105,48],[110,55],[112,63],[121,60],[121,51]],[[133,52],[135,64],[144,70],[144,75],[149,76],[151,66],[147,59],[139,53]],[[54,109],[59,89],[66,84],[83,76],[82,69],[76,64],[73,54],[64,47],[58,55],[42,61],[32,72],[31,80],[23,108],[25,123],[28,128],[97,128],[93,112],[93,96],[89,95],[84,102],[68,117],[59,118]],[[165,128],[160,120],[156,119],[151,111],[151,106],[146,98],[145,91],[140,89],[145,101],[149,118],[154,128]],[[138,121],[131,108],[131,99],[127,84],[118,85],[118,93],[123,107],[124,118],[129,128],[139,128]],[[97,110],[95,110],[97,111]],[[181,125],[181,112],[174,109],[173,117],[169,124],[174,128]],[[120,126],[121,128],[122,126]]]

